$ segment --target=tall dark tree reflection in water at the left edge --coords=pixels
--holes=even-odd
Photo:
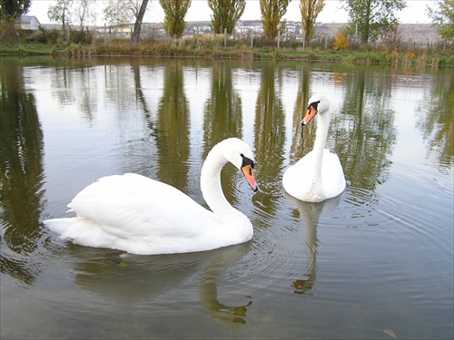
[[[41,238],[43,131],[33,93],[25,91],[24,69],[15,59],[5,58],[0,78],[1,105],[1,214],[2,246],[0,264],[7,273],[27,284],[40,272],[33,257]]]

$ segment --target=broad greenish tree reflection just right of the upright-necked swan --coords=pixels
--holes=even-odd
[[[332,117],[328,145],[355,187],[375,189],[387,180],[385,170],[397,138],[390,110],[392,82],[389,73],[365,68],[348,73],[341,114]]]

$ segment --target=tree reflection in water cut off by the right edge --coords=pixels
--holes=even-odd
[[[429,96],[419,108],[417,124],[427,142],[428,158],[443,168],[454,163],[454,71],[434,76]],[[433,103],[437,103],[434,105]]]

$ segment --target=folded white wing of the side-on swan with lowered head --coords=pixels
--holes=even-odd
[[[68,205],[118,238],[191,238],[200,220],[212,219],[182,191],[141,175],[104,177],[83,189]]]

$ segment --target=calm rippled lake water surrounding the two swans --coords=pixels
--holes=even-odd
[[[301,62],[0,58],[2,339],[452,339],[454,69]],[[288,197],[312,92],[347,189]],[[137,172],[204,205],[202,160],[240,137],[259,191],[222,186],[254,227],[217,250],[121,257],[43,219]],[[383,332],[387,330],[387,332]]]

